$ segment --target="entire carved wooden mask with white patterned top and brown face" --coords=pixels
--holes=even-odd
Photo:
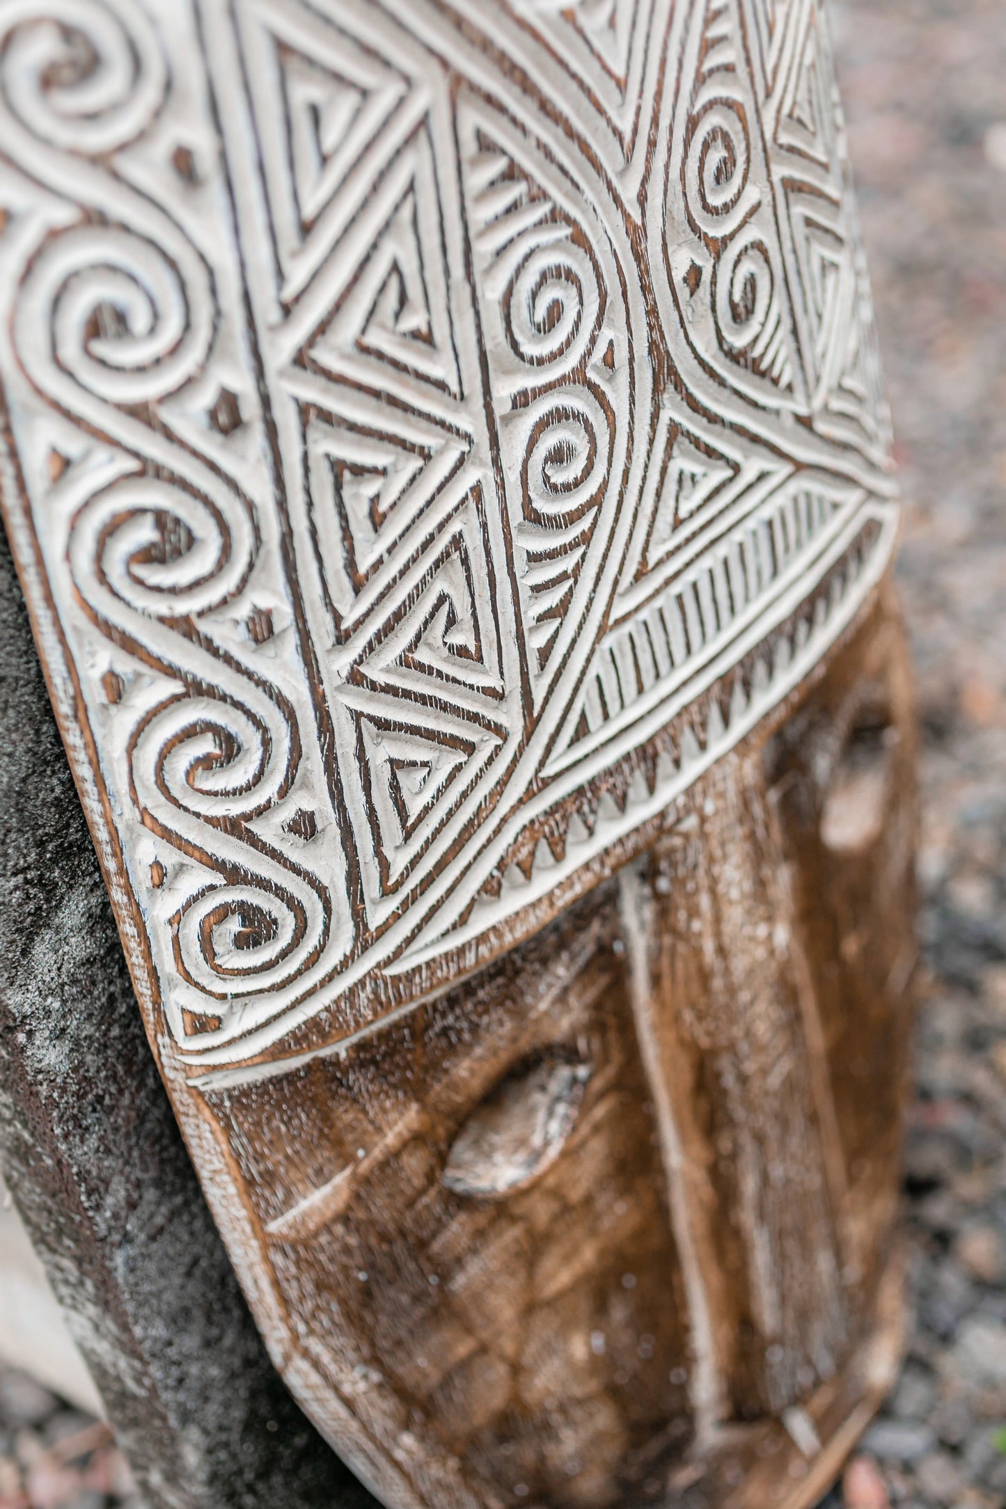
[[[799,910],[744,751],[833,646],[903,723],[819,5],[6,0],[0,86],[8,528],[273,1355],[395,1509],[652,1500],[836,1376],[870,1266],[855,1180],[813,1188],[842,1097],[784,940],[757,1094],[802,1088],[759,1147],[811,1129],[816,1277],[781,1242],[778,1313],[751,1280],[716,1340],[706,1265],[754,1272],[759,1216],[703,1248],[671,1176],[727,1050],[646,1005],[698,969],[653,963],[697,874],[727,961]]]

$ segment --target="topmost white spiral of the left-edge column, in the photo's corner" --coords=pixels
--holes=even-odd
[[[38,140],[98,157],[136,140],[167,89],[143,11],[127,0],[5,0],[0,95]]]

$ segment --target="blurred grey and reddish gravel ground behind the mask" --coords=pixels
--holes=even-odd
[[[926,976],[909,1354],[827,1509],[1004,1509],[1006,11],[834,0],[833,18],[908,499]],[[0,1372],[0,1509],[130,1492],[103,1426]]]

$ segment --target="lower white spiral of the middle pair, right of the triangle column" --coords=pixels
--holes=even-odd
[[[561,527],[597,507],[611,469],[612,429],[590,388],[563,388],[531,406],[522,475],[529,521]]]

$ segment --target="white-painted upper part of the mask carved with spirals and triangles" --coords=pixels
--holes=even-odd
[[[134,970],[202,1064],[359,1031],[569,901],[885,566],[819,6],[0,30],[3,496]]]

